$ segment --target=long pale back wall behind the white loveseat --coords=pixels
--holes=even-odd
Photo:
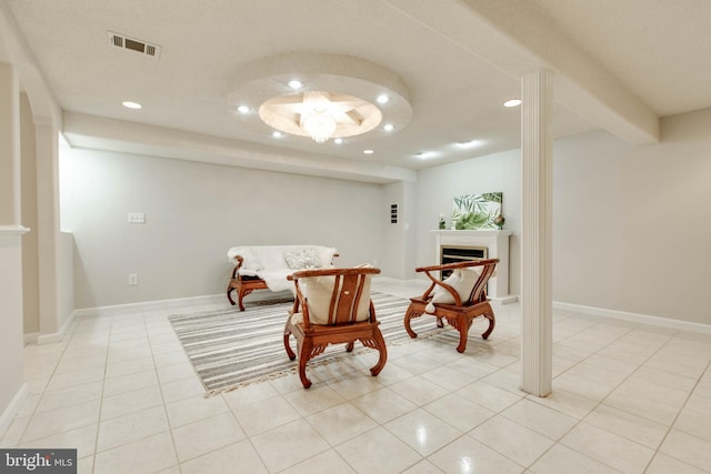
[[[223,293],[236,245],[332,245],[340,266],[382,260],[378,184],[90,150],[62,149],[60,164],[77,307]]]

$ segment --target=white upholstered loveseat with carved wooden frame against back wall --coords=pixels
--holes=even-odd
[[[324,245],[243,245],[231,248],[227,256],[234,264],[227,297],[244,311],[242,299],[246,295],[254,290],[290,290],[293,293],[293,283],[287,280],[288,275],[299,270],[330,268],[338,252]],[[237,291],[237,302],[232,291]]]

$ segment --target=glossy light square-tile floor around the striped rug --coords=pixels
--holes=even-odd
[[[555,311],[541,399],[519,390],[513,303],[464,354],[415,340],[378,377],[352,355],[310,369],[308,391],[290,375],[204,399],[167,319],[204,309],[84,316],[28,345],[30,395],[0,445],[77,447],[98,474],[711,472],[711,334]]]

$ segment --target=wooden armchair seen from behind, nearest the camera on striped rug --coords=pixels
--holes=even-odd
[[[378,363],[370,369],[375,376],[388,360],[385,341],[375,319],[370,300],[370,280],[380,269],[322,269],[302,270],[289,276],[297,290],[293,310],[284,325],[284,349],[292,361],[297,354],[289,337],[297,340],[299,376],[304,389],[311,386],[307,377],[307,362],[321,354],[329,344],[346,344],[351,352],[356,341],[380,353]]]

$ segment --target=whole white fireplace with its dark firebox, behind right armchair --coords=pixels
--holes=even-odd
[[[435,256],[440,263],[470,259],[499,259],[497,274],[488,283],[487,295],[501,303],[511,303],[518,296],[509,294],[509,236],[511,231],[431,231],[435,238]],[[443,275],[447,276],[447,275]]]

